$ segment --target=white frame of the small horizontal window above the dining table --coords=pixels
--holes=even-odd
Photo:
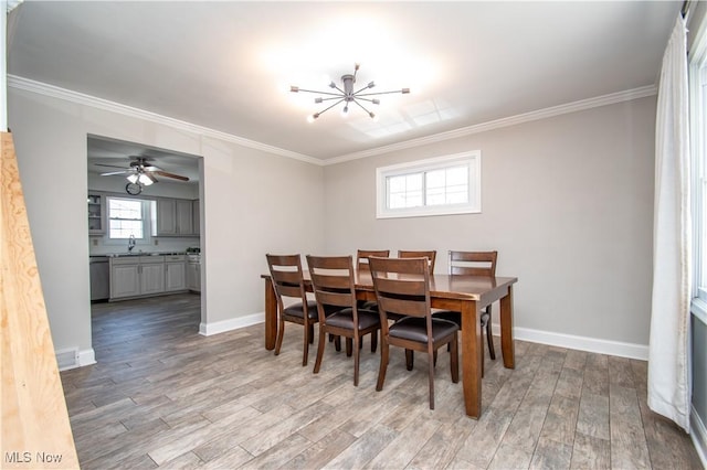
[[[467,165],[468,197],[463,204],[436,204],[418,207],[390,209],[388,204],[388,179],[412,173]],[[423,217],[431,215],[474,214],[482,212],[482,152],[473,150],[451,156],[436,157],[414,162],[393,164],[376,169],[376,217]]]

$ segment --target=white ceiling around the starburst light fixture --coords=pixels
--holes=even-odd
[[[25,0],[8,73],[327,160],[654,86],[682,3]],[[413,93],[306,122],[356,62]]]

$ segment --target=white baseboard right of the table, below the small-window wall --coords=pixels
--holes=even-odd
[[[497,323],[493,323],[492,331],[495,335],[499,335],[500,327]],[[513,329],[513,338],[515,340],[548,344],[551,346],[616,355],[620,357],[639,359],[642,361],[648,360],[647,344],[624,343],[621,341],[600,340],[597,338],[552,333],[549,331],[531,330],[529,328],[517,327]]]

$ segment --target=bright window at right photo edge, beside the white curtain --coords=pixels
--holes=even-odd
[[[704,28],[703,28],[704,30]],[[690,152],[694,164],[694,297],[707,302],[707,34],[690,51]],[[705,314],[704,306],[700,314]]]

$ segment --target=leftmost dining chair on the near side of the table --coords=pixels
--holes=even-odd
[[[279,322],[277,324],[277,341],[275,343],[275,355],[279,354],[285,335],[285,322],[302,324],[304,327],[304,355],[302,365],[307,365],[309,356],[309,343],[314,342],[314,324],[319,321],[317,302],[307,300],[304,277],[302,271],[302,259],[297,255],[265,255],[270,268],[275,297],[277,298],[277,311]],[[297,299],[295,303],[285,307],[284,299]]]

